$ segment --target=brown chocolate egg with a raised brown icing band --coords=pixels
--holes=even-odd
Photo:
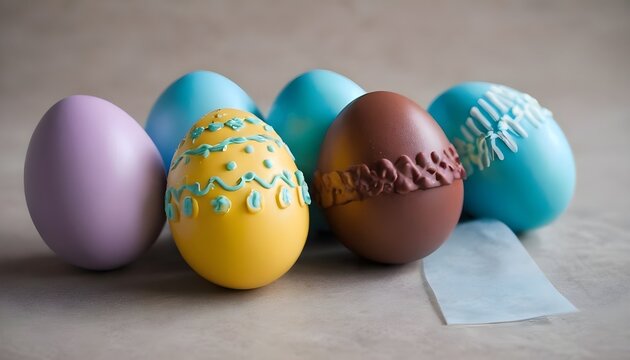
[[[341,242],[367,259],[421,259],[461,214],[465,171],[433,118],[386,91],[350,103],[328,129],[315,198]]]

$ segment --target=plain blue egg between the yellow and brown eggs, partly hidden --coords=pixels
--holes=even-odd
[[[269,111],[267,123],[289,145],[298,168],[311,181],[319,148],[339,112],[365,94],[359,85],[329,70],[311,70],[282,89]]]

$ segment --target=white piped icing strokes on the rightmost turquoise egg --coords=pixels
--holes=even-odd
[[[540,106],[533,97],[501,85],[493,85],[470,109],[465,123],[460,126],[461,137],[453,143],[469,175],[474,168],[483,170],[495,159],[505,158],[497,145],[501,141],[510,151],[517,152],[514,137],[527,138],[529,134],[521,122],[527,121],[538,128],[551,111]]]

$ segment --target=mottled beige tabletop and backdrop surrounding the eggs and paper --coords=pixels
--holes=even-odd
[[[0,1],[0,358],[627,358],[630,3],[622,1]],[[464,80],[539,98],[564,128],[577,194],[523,243],[581,309],[447,327],[420,264],[381,267],[310,243],[256,291],[197,277],[168,236],[120,271],[61,263],[30,222],[22,167],[54,102],[106,98],[144,123],[193,69],[267,111],[313,67],[423,106]]]

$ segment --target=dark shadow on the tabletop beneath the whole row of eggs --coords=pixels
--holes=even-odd
[[[384,265],[362,259],[331,234],[311,236],[293,268],[275,283],[254,290],[232,290],[197,275],[183,260],[172,237],[164,232],[136,262],[110,271],[90,271],[42,252],[0,260],[0,283],[9,301],[46,302],[51,306],[106,306],[111,301],[143,301],[149,296],[214,303],[246,302],[292,284],[374,281],[408,271],[410,266]],[[415,270],[414,270],[415,271]]]

